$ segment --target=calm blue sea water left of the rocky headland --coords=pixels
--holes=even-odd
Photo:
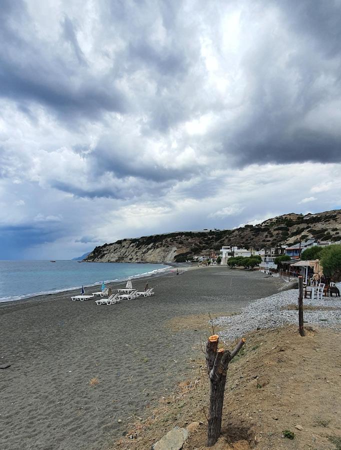
[[[166,268],[163,264],[133,262],[0,260],[0,302],[153,274]]]

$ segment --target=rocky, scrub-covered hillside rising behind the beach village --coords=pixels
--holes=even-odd
[[[294,244],[308,238],[339,240],[341,209],[316,214],[284,214],[258,225],[241,228],[182,231],[117,240],[95,247],[85,261],[96,262],[181,262],[192,255],[207,255],[222,245],[262,248]]]

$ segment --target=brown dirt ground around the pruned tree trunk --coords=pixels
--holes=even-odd
[[[202,320],[201,320],[202,319]],[[211,334],[207,316],[178,317],[170,327]],[[229,364],[221,436],[214,450],[341,449],[340,332],[314,327],[300,337],[295,326],[258,330]],[[228,345],[225,345],[228,347]],[[232,348],[233,343],[229,346]],[[145,420],[113,446],[150,449],[175,425],[188,427],[183,450],[207,448],[208,377],[204,354],[191,360],[192,374],[161,397]],[[284,434],[293,433],[293,438]]]

